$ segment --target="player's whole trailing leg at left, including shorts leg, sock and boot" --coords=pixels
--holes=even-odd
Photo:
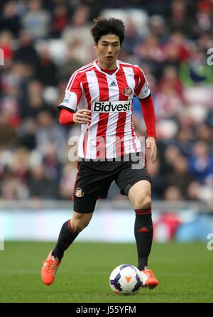
[[[50,252],[42,268],[43,283],[50,285],[55,279],[55,272],[60,265],[65,250],[70,247],[77,235],[87,227],[92,218],[97,198],[107,197],[111,184],[109,173],[97,171],[94,164],[80,162],[73,195],[74,213],[60,230],[58,242]]]

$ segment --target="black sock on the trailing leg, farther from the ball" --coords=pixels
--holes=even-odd
[[[70,220],[67,220],[60,230],[57,245],[53,249],[53,257],[58,257],[59,261],[62,259],[65,250],[70,247],[72,242],[77,237],[78,233],[72,231]]]

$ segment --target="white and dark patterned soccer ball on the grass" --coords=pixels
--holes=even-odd
[[[109,276],[109,286],[116,294],[136,294],[141,284],[141,272],[130,264],[119,265]]]

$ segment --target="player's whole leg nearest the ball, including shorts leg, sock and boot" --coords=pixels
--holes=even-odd
[[[121,194],[127,195],[133,204],[136,213],[134,232],[138,251],[138,269],[144,276],[143,286],[153,288],[158,285],[158,280],[148,269],[148,256],[153,241],[151,177],[140,154],[133,154],[128,163],[121,166],[116,183],[121,188]]]

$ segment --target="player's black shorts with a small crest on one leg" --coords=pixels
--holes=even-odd
[[[138,158],[136,157],[138,156]],[[78,161],[78,173],[75,182],[74,211],[77,213],[93,213],[97,199],[107,198],[109,186],[113,181],[121,189],[122,195],[128,195],[131,186],[138,181],[151,183],[151,177],[139,154],[121,161]]]

